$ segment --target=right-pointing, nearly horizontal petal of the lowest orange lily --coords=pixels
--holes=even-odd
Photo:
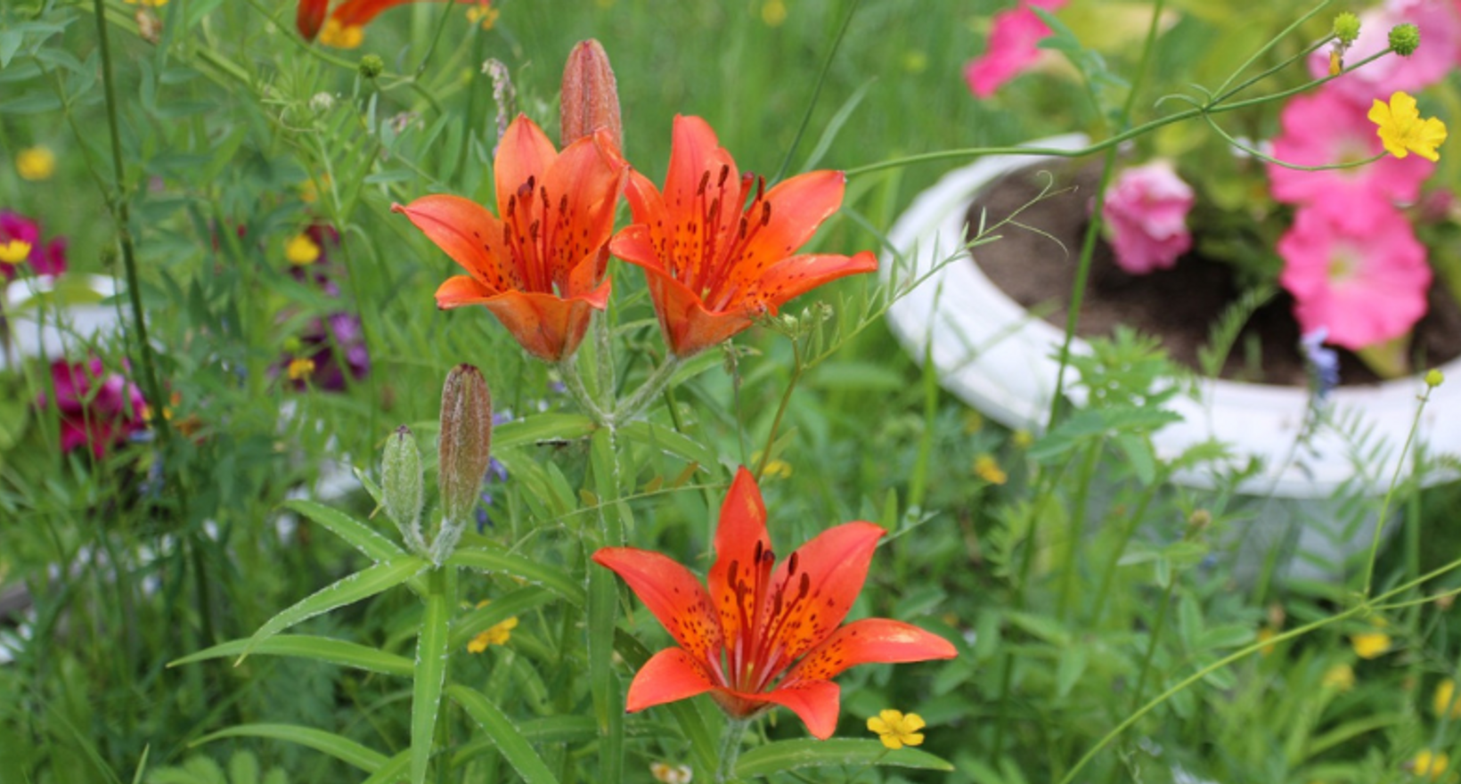
[[[950,641],[912,623],[866,618],[833,632],[798,661],[782,682],[817,682],[834,677],[856,664],[954,658],[957,653]]]

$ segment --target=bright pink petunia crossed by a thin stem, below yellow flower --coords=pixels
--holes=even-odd
[[[1278,121],[1283,133],[1274,139],[1273,156],[1303,166],[1365,161],[1385,150],[1366,117],[1369,107],[1349,102],[1332,86],[1299,95],[1284,104]],[[1289,204],[1315,204],[1340,215],[1369,215],[1373,200],[1410,203],[1420,197],[1420,182],[1435,164],[1419,155],[1386,155],[1353,169],[1296,171],[1268,166],[1274,199]]]

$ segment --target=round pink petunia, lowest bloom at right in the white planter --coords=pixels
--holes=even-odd
[[[1405,334],[1426,314],[1426,248],[1395,207],[1369,201],[1362,220],[1330,209],[1299,209],[1278,239],[1278,283],[1293,295],[1303,333],[1363,349]]]

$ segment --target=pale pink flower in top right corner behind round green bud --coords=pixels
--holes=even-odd
[[[1445,77],[1461,57],[1461,12],[1454,0],[1389,0],[1360,15],[1360,35],[1344,55],[1347,63],[1389,48],[1389,29],[1403,22],[1420,28],[1420,47],[1410,57],[1386,54],[1330,85],[1347,101],[1369,108],[1395,91],[1416,92]],[[1309,55],[1315,79],[1330,74],[1330,48]]]

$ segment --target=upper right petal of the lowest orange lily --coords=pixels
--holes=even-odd
[[[847,618],[847,610],[862,593],[872,564],[872,552],[885,531],[872,523],[843,523],[817,534],[802,545],[790,558],[782,561],[771,575],[771,585],[787,599],[779,622],[779,639],[766,653],[766,672],[777,672],[785,663],[812,650],[827,639]],[[790,571],[792,559],[796,572]],[[799,602],[790,602],[801,594],[799,584],[805,581],[806,594]]]

